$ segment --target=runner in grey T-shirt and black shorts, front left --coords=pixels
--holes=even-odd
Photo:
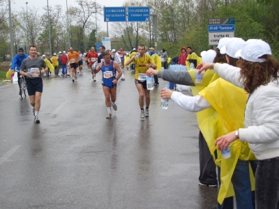
[[[42,75],[47,71],[45,61],[36,56],[37,49],[35,45],[29,47],[29,57],[22,61],[20,66],[20,75],[25,75],[27,80],[27,91],[30,104],[33,107],[34,123],[40,123],[38,114],[40,111],[40,98],[43,93]],[[41,70],[44,68],[43,70]]]

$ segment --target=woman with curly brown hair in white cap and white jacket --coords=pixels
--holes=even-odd
[[[244,128],[216,139],[219,150],[227,150],[234,140],[248,142],[259,160],[255,173],[256,208],[279,208],[279,63],[263,40],[246,41],[237,67],[201,63],[197,69],[213,69],[223,79],[249,93]]]

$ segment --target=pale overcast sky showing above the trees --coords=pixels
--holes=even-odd
[[[12,8],[12,13],[15,10],[21,10],[21,8],[28,7],[35,7],[38,8],[39,12],[43,13],[43,7],[47,6],[47,0],[13,0],[13,3],[11,3],[11,8]],[[14,3],[15,2],[15,3]],[[28,4],[26,4],[28,2]],[[112,0],[96,0],[97,3],[99,3],[101,6],[106,6],[106,7],[114,7],[114,6],[122,6],[125,0],[117,0],[117,1],[112,1]],[[63,7],[63,10],[66,11],[66,0],[48,0],[49,6],[55,6],[57,4],[60,4]],[[68,8],[70,6],[77,6],[77,3],[75,0],[68,0]],[[64,12],[63,11],[63,12]],[[95,17],[95,15],[93,15]],[[98,17],[98,26],[101,26],[102,31],[107,31],[107,22],[104,22],[104,17],[103,15],[97,15]],[[95,18],[92,18],[92,21],[95,22]],[[110,30],[110,24],[109,22],[109,30]]]

